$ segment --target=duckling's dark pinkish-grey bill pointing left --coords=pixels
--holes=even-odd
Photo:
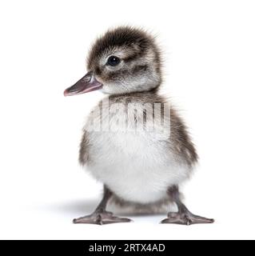
[[[89,93],[93,90],[100,90],[102,88],[102,83],[98,82],[96,78],[94,78],[93,72],[90,71],[83,78],[81,78],[78,82],[74,84],[74,86],[70,86],[64,91],[65,96],[78,95]]]

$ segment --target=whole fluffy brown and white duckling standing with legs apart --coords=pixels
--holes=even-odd
[[[64,95],[107,94],[87,119],[79,151],[79,162],[104,184],[104,193],[94,213],[74,223],[130,222],[106,210],[110,200],[141,209],[173,202],[177,211],[161,223],[212,223],[181,201],[178,187],[198,156],[184,122],[158,93],[161,51],[153,36],[129,26],[108,30],[91,47],[87,70]]]

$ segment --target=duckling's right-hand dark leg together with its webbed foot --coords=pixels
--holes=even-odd
[[[204,218],[192,214],[188,208],[181,202],[180,193],[177,186],[173,186],[168,190],[169,197],[173,202],[177,204],[178,212],[168,214],[168,218],[165,218],[161,223],[169,224],[181,224],[181,225],[192,225],[202,223],[213,223],[213,218]]]

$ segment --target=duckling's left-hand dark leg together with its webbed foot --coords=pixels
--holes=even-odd
[[[120,223],[120,222],[131,222],[129,218],[118,218],[114,214],[106,211],[106,205],[109,199],[112,196],[112,192],[105,186],[104,195],[102,201],[99,203],[97,209],[93,214],[81,217],[74,218],[74,223],[83,223],[83,224],[111,224],[111,223]]]

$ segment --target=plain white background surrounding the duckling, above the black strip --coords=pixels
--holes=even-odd
[[[0,238],[255,238],[253,1],[1,1]],[[102,185],[78,165],[82,125],[100,92],[64,98],[111,26],[157,34],[164,93],[191,127],[201,162],[183,187],[213,225],[74,225]]]

